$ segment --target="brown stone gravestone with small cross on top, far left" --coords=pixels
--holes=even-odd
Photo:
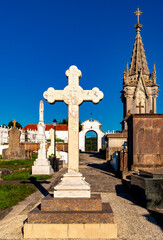
[[[3,149],[2,159],[16,160],[26,159],[26,152],[20,147],[20,134],[21,132],[16,127],[16,120],[13,120],[13,127],[8,132],[9,135],[9,147]]]

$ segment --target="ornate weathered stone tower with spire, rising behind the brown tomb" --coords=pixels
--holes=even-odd
[[[122,129],[127,129],[126,119],[132,113],[156,113],[156,98],[158,96],[158,87],[156,84],[156,67],[153,66],[153,72],[150,74],[148,63],[146,61],[145,50],[143,48],[139,23],[139,16],[142,12],[137,9],[136,38],[131,58],[131,64],[123,72],[123,90],[121,91],[121,100],[123,102],[123,121]]]

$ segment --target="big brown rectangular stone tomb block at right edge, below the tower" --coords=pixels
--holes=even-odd
[[[132,114],[127,123],[129,170],[163,167],[163,114]]]

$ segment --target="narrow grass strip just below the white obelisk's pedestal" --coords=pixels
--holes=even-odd
[[[31,170],[14,172],[10,175],[6,175],[2,177],[3,180],[30,180],[31,178],[35,178],[36,180],[46,180],[49,179],[49,175],[31,175]]]

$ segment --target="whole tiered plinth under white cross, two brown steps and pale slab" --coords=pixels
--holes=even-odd
[[[109,203],[99,194],[91,198],[41,200],[41,210],[33,209],[24,226],[25,238],[116,238],[117,226]]]

